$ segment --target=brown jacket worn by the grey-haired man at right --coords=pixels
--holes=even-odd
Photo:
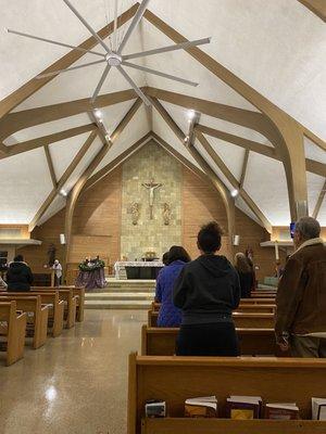
[[[310,240],[287,261],[276,296],[276,337],[326,332],[326,247]]]

